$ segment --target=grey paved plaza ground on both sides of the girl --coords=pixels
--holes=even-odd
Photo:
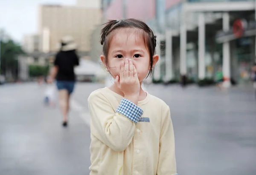
[[[256,101],[250,86],[145,85],[170,106],[179,175],[256,175]],[[88,175],[87,98],[102,84],[78,83],[69,126],[44,106],[44,86],[0,86],[0,175]]]

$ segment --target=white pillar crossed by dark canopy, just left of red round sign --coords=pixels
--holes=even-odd
[[[230,28],[230,16],[227,12],[223,14],[223,30],[228,31]],[[224,76],[224,86],[230,86],[230,42],[223,43],[223,64],[222,71]]]

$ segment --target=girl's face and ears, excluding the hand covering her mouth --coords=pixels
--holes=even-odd
[[[108,67],[114,78],[116,75],[120,76],[121,63],[125,58],[132,59],[138,78],[142,82],[150,69],[150,56],[141,35],[138,32],[131,32],[131,29],[119,30],[111,40],[108,49]],[[101,55],[101,60],[105,64],[104,55]],[[157,63],[157,61],[158,55],[154,55],[153,62]]]

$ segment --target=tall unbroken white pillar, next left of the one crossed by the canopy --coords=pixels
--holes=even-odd
[[[205,20],[204,14],[198,16],[198,78],[205,78]]]

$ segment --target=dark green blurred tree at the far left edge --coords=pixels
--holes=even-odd
[[[5,33],[0,31],[0,74],[6,78],[17,78],[18,74],[18,55],[25,54],[20,45],[12,39],[5,36]]]

